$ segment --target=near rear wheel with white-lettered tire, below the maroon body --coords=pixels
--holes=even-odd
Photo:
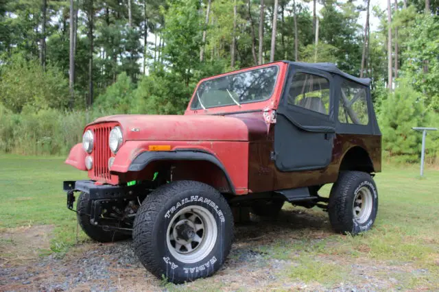
[[[369,173],[343,171],[331,188],[329,221],[336,232],[359,234],[372,228],[378,212],[377,186]]]

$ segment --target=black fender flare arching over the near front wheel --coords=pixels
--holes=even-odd
[[[141,171],[148,164],[150,164],[150,162],[158,160],[202,160],[211,162],[213,165],[221,169],[226,176],[230,191],[235,194],[235,186],[233,186],[233,182],[230,179],[230,176],[228,175],[224,165],[222,165],[218,158],[213,156],[213,154],[202,150],[187,149],[176,151],[143,151],[132,160],[130,167],[128,167],[128,171]]]

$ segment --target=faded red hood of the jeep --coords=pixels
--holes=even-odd
[[[249,141],[254,134],[267,133],[260,116],[126,114],[102,117],[91,124],[117,122],[126,141]]]

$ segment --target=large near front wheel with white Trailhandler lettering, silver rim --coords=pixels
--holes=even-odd
[[[134,219],[134,251],[143,266],[169,282],[213,275],[233,239],[233,216],[215,188],[194,181],[165,184],[147,195]]]

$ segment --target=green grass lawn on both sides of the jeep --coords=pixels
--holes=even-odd
[[[0,155],[0,166],[0,250],[5,244],[1,232],[20,226],[54,226],[50,250],[43,253],[62,255],[72,245],[86,241],[82,232],[77,236],[75,213],[67,210],[62,191],[62,181],[83,179],[86,175],[82,171],[64,165],[63,158],[54,157]],[[300,232],[285,230],[274,241],[257,241],[252,250],[270,260],[291,263],[277,275],[282,281],[318,282],[333,287],[334,283],[355,276],[350,267],[357,263],[368,267],[385,265],[385,269],[377,269],[376,276],[395,278],[399,286],[394,288],[439,289],[439,171],[427,168],[425,177],[419,178],[416,165],[385,165],[375,180],[379,212],[370,232],[342,236],[331,233],[327,223],[319,229],[305,219],[289,223],[304,225]],[[322,192],[329,193],[329,187]],[[285,204],[284,209],[285,214],[292,212],[290,204]],[[320,209],[299,210],[321,218],[321,222],[327,220]],[[241,239],[243,244],[246,241]],[[383,271],[386,274],[379,275]],[[202,287],[206,281],[209,280],[189,287]]]

